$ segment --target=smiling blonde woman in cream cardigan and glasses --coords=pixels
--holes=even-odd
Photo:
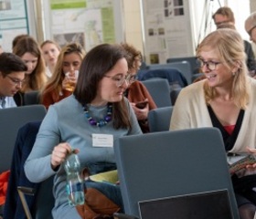
[[[197,61],[206,79],[181,90],[170,130],[216,127],[228,156],[256,155],[256,80],[248,76],[240,34],[226,28],[210,33],[197,47]],[[248,165],[231,177],[240,219],[255,214],[254,173],[255,165]]]

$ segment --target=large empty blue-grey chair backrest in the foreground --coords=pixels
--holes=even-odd
[[[239,218],[218,129],[125,136],[114,152],[125,214],[138,216],[140,201],[227,189],[233,216]]]

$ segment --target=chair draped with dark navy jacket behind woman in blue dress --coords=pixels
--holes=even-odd
[[[16,145],[13,153],[11,172],[8,181],[8,188],[5,201],[5,219],[29,219],[24,211],[24,203],[18,196],[17,189],[29,188],[26,191],[31,191],[26,195],[26,206],[29,214],[32,214],[33,219],[52,218],[51,210],[54,206],[54,198],[52,194],[53,177],[43,183],[31,183],[24,172],[24,163],[34,146],[36,141],[37,131],[41,121],[28,122],[25,126],[18,130]]]

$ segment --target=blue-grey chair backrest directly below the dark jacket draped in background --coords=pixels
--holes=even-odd
[[[158,108],[172,106],[167,79],[154,78],[142,81]]]

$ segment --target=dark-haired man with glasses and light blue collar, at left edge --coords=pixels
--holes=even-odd
[[[27,65],[12,53],[0,55],[0,109],[16,107],[14,95],[25,81]]]

